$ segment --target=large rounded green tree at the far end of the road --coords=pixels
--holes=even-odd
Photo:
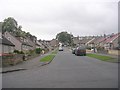
[[[69,34],[68,32],[61,32],[56,35],[56,39],[58,39],[59,42],[64,44],[71,45],[73,43],[73,35]]]

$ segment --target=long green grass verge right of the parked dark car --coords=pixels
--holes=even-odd
[[[96,58],[96,59],[99,59],[99,60],[102,60],[102,61],[107,61],[107,62],[113,62],[113,63],[118,62],[117,58],[113,58],[113,57],[110,57],[110,56],[97,55],[97,54],[92,54],[92,53],[87,54],[87,56],[92,57],[92,58]]]

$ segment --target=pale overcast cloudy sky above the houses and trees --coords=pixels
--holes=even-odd
[[[53,39],[61,31],[74,36],[118,32],[118,0],[0,0],[0,12],[0,21],[13,17],[38,39]]]

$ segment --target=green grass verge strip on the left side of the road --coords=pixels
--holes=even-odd
[[[43,57],[40,59],[40,62],[50,62],[53,60],[53,58],[55,57],[55,55],[57,54],[58,50],[53,51],[51,54]]]

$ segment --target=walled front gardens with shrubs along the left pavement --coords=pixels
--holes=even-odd
[[[13,53],[3,54],[0,56],[2,61],[1,66],[2,67],[11,66],[11,65],[13,66],[23,61],[38,57],[41,54],[43,54],[42,53],[43,50],[44,50],[44,54],[49,52],[48,49],[36,48],[35,50],[28,50],[28,51],[14,50]]]

